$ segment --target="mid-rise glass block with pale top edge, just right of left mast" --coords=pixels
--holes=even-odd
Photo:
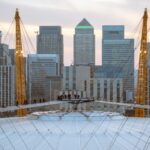
[[[61,90],[59,56],[30,54],[27,59],[29,103],[56,99]]]

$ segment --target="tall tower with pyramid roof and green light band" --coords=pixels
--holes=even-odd
[[[86,19],[83,19],[75,28],[74,64],[95,64],[94,28]]]

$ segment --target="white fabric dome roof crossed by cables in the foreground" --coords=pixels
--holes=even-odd
[[[1,118],[0,149],[126,150],[150,149],[149,118],[110,112],[34,113]]]

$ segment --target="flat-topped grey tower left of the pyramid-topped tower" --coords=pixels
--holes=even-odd
[[[40,26],[37,35],[38,54],[58,54],[60,74],[63,72],[63,35],[60,26]]]

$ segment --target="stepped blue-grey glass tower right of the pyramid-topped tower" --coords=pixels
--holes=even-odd
[[[102,65],[122,68],[124,99],[134,93],[134,39],[125,39],[124,26],[103,26]]]

